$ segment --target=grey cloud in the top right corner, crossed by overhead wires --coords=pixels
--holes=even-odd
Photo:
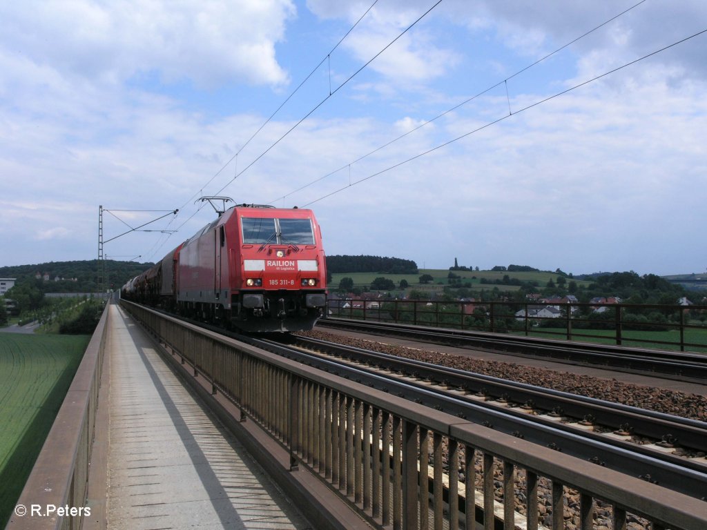
[[[461,1],[461,0],[460,0]],[[543,54],[575,40],[583,33],[594,30],[638,1],[600,3],[590,0],[573,2],[535,2],[532,6],[522,1],[476,3],[473,10],[457,5],[457,20],[469,27],[495,27],[504,44],[529,57]],[[619,66],[661,47],[671,45],[684,37],[704,30],[704,4],[700,0],[686,0],[678,4],[645,1],[623,16],[612,20],[578,40],[571,46],[580,60],[586,56],[602,64],[602,71]],[[471,15],[469,13],[472,13]],[[701,49],[706,36],[684,45],[679,52],[665,53],[653,61],[667,66],[679,66],[682,74],[691,78],[705,78],[707,65]],[[591,69],[585,73],[601,73]]]

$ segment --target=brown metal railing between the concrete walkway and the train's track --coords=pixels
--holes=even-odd
[[[123,303],[375,527],[707,528],[703,500]]]

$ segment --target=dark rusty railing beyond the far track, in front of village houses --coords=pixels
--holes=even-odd
[[[707,351],[705,306],[455,300],[328,300],[327,306],[330,317]]]

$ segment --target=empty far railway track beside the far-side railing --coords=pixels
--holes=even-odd
[[[327,318],[317,322],[317,327],[320,326],[374,335],[399,336],[427,343],[474,348],[506,355],[548,358],[570,364],[600,365],[621,372],[660,375],[667,379],[700,384],[707,381],[707,355],[704,353],[626,348],[481,331],[362,322],[355,319]]]

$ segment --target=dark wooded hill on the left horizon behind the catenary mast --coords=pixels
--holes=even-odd
[[[106,259],[105,283],[109,288],[119,288],[152,265]],[[42,293],[93,293],[98,287],[98,259],[0,267],[0,277],[17,278],[18,284],[36,282]]]

